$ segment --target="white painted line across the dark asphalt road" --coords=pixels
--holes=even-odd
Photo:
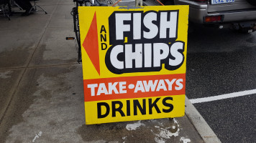
[[[189,99],[192,104],[195,103],[202,103],[202,102],[212,102],[215,100],[220,100],[220,99],[228,99],[228,98],[234,98],[234,97],[242,97],[244,95],[250,95],[250,94],[256,94],[256,89],[252,90],[245,90],[243,92],[234,92],[231,94],[222,94],[214,97],[204,97],[204,98],[198,98],[198,99]]]

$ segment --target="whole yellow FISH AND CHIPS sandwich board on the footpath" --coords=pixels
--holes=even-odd
[[[184,115],[188,6],[78,12],[86,124]]]

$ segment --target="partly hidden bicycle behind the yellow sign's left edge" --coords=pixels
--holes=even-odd
[[[108,6],[107,4],[100,3],[98,0],[73,0],[75,7],[73,7],[70,14],[73,16],[74,32],[76,38],[66,37],[67,40],[76,39],[76,46],[78,46],[78,63],[82,61],[81,59],[81,39],[80,39],[80,29],[79,29],[79,17],[78,17],[78,6]]]

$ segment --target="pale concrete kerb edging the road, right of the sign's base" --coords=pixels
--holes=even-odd
[[[186,108],[185,112],[188,116],[188,119],[191,120],[193,126],[196,128],[200,136],[204,139],[206,143],[221,143],[219,138],[216,136],[214,131],[209,127],[209,124],[206,123],[201,114],[196,110],[193,104],[186,97],[185,102]]]

